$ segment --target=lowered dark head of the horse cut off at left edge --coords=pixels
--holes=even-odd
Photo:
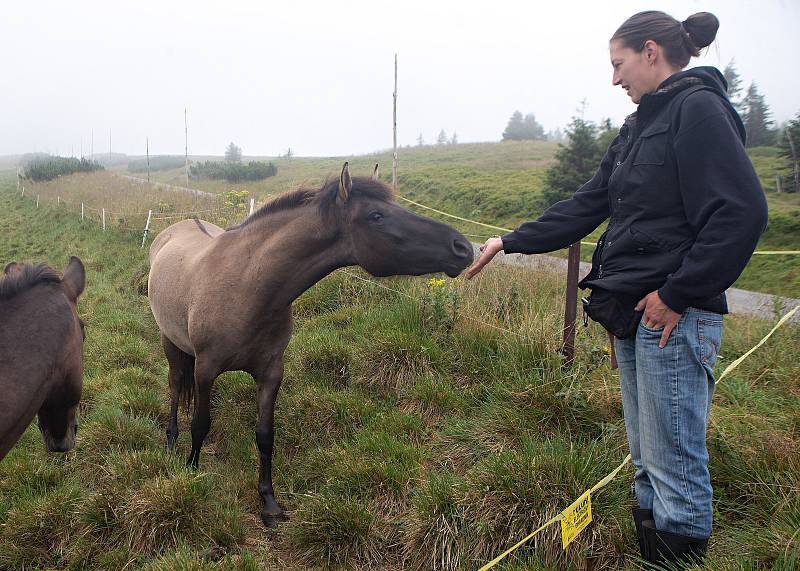
[[[78,434],[76,412],[83,391],[83,341],[86,335],[76,305],[85,285],[83,264],[72,256],[61,280],[71,312],[62,351],[52,373],[60,378],[53,379],[50,394],[38,413],[39,430],[51,452],[72,450]]]

